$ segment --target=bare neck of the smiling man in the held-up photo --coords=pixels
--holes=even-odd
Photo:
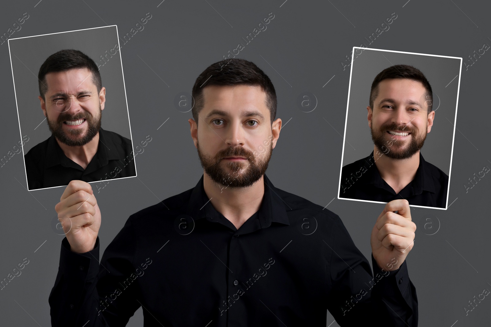
[[[374,153],[377,151],[379,151],[377,147],[374,147]],[[374,156],[374,160],[382,179],[396,193],[399,193],[416,176],[419,167],[419,151],[408,159],[396,160],[382,154],[379,158]]]

